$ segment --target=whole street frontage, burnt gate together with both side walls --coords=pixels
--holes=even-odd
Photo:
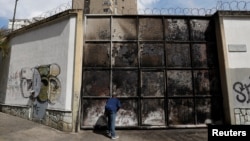
[[[64,11],[9,35],[0,111],[76,132],[105,126],[116,92],[117,128],[247,125],[249,17]]]

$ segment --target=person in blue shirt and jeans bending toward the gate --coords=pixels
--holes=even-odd
[[[115,133],[115,120],[116,120],[116,113],[121,108],[121,102],[117,98],[117,94],[113,93],[112,97],[109,98],[105,105],[105,113],[108,117],[108,124],[107,124],[107,134],[111,139],[118,139],[119,136]]]

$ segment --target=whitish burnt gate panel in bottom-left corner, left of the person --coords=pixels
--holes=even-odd
[[[81,125],[94,127],[94,126],[106,126],[107,121],[104,115],[104,106],[106,99],[93,100],[84,99],[82,100],[82,118]]]

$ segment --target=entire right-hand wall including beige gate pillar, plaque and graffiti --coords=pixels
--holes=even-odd
[[[250,124],[250,19],[246,13],[219,17],[225,117],[230,124]]]

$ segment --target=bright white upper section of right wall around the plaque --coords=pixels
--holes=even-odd
[[[225,17],[223,24],[229,68],[250,68],[250,18]],[[230,44],[244,44],[247,52],[229,52]]]

